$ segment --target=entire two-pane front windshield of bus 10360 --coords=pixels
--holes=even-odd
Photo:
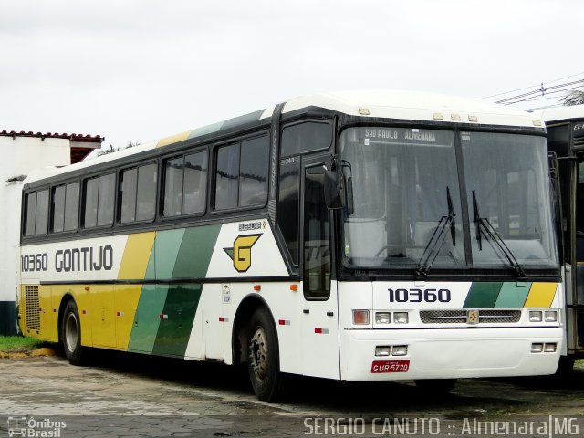
[[[460,134],[472,248],[467,259],[455,135],[386,127],[343,131],[341,159],[353,204],[343,214],[345,266],[557,267],[545,139]]]

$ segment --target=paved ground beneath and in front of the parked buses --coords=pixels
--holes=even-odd
[[[255,400],[245,372],[224,365],[116,352],[91,367],[60,356],[2,359],[0,437],[23,423],[26,436],[64,437],[507,436],[521,422],[533,422],[527,436],[584,435],[584,369],[568,382],[464,380],[442,397],[412,382],[292,386],[286,403],[267,404]]]

